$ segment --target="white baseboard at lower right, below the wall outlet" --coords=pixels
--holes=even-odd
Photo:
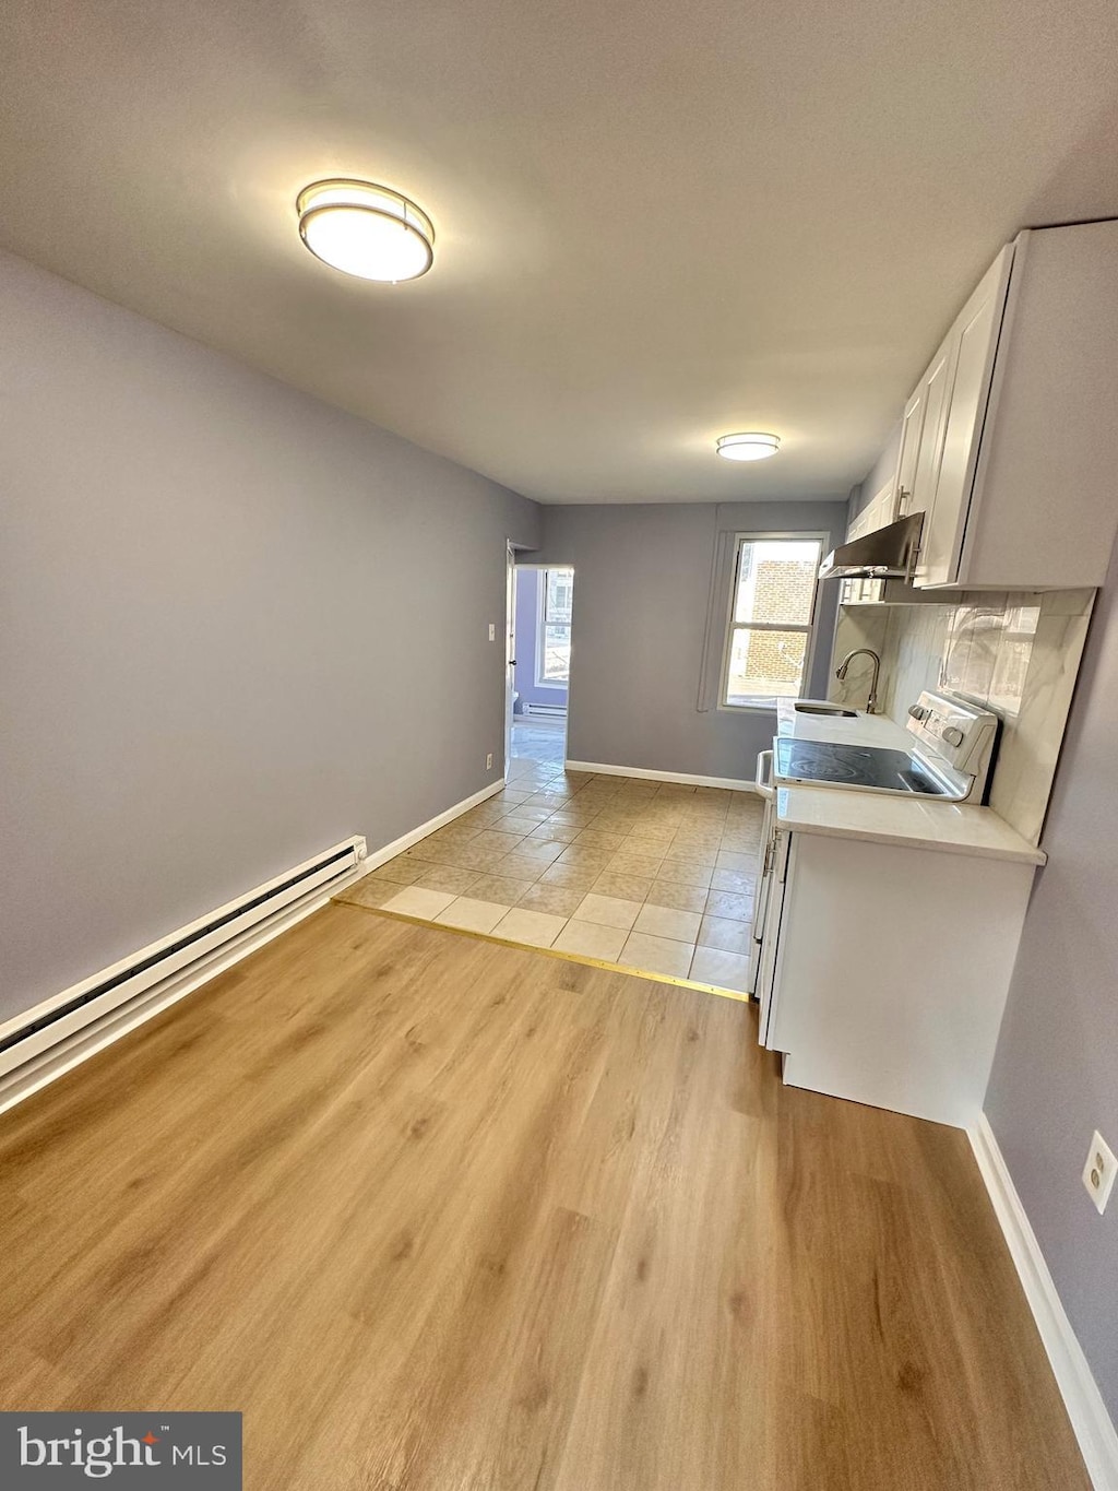
[[[1072,1421],[1094,1491],[1118,1491],[1118,1433],[1106,1412],[1091,1367],[1060,1303],[1036,1233],[1017,1194],[1005,1157],[982,1114],[969,1130],[970,1148],[1009,1245],[1021,1287],[1040,1331],[1057,1387]]]

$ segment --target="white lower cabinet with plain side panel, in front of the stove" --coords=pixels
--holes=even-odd
[[[1035,866],[774,826],[756,994],[784,1081],[970,1127]]]

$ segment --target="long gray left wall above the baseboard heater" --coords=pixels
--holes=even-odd
[[[0,325],[3,1018],[495,780],[538,508],[10,256]]]

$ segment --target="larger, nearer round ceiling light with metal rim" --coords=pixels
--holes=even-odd
[[[391,186],[335,177],[304,186],[297,204],[303,242],[343,274],[397,285],[434,262],[431,219]]]

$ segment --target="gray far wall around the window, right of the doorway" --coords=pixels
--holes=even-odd
[[[845,504],[571,505],[546,507],[543,520],[532,564],[574,565],[568,757],[751,778],[775,714],[698,708],[717,537],[798,529],[838,543]],[[823,696],[836,599],[838,581],[824,581],[809,683]]]

